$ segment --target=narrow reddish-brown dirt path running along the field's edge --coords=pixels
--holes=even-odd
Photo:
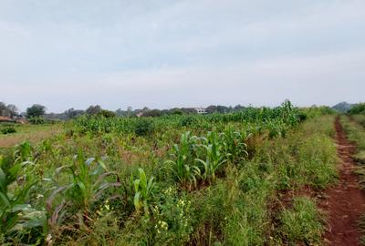
[[[328,231],[325,240],[328,245],[360,245],[359,219],[365,211],[365,194],[358,187],[358,177],[352,173],[354,161],[351,159],[355,151],[345,136],[345,132],[339,123],[335,122],[336,141],[338,154],[341,159],[339,167],[339,184],[327,190],[328,199],[322,204],[328,211]]]

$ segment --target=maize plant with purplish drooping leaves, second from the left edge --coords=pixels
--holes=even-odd
[[[58,220],[65,215],[72,214],[78,210],[78,224],[85,226],[91,205],[103,200],[105,190],[109,188],[119,188],[120,178],[114,172],[109,172],[102,159],[85,159],[83,153],[79,151],[74,157],[71,165],[62,166],[56,170],[56,175],[66,174],[68,183],[56,185],[47,200],[47,210],[51,216],[50,222],[52,231],[57,233]],[[108,177],[115,177],[115,181],[110,181]],[[55,180],[55,179],[54,179]],[[54,204],[58,199],[58,203]]]

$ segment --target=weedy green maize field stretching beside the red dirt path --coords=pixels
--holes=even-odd
[[[336,118],[287,101],[229,114],[22,127],[0,137],[15,145],[2,145],[0,242],[323,245],[321,204],[342,177]],[[362,161],[363,118],[337,122]],[[365,171],[357,172],[363,183]]]

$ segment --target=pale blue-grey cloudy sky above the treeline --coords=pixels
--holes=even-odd
[[[364,0],[0,0],[0,101],[25,110],[365,100]]]

